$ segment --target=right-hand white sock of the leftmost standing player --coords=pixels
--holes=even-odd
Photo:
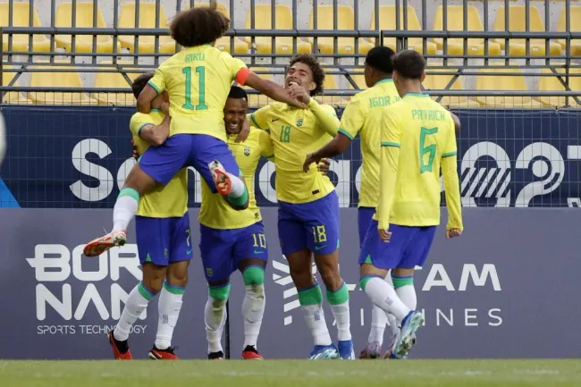
[[[157,304],[156,349],[168,349],[172,346],[173,329],[178,322],[181,311],[181,299],[185,288],[172,286],[164,282]]]

